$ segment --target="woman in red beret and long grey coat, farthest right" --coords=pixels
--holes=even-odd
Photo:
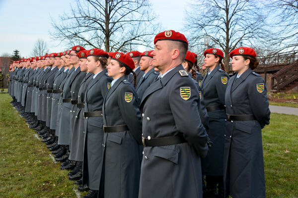
[[[251,48],[230,52],[237,72],[225,92],[226,135],[224,181],[226,196],[265,198],[261,129],[269,124],[270,110],[263,78],[253,72],[259,61]]]

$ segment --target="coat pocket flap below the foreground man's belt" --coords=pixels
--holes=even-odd
[[[167,159],[175,164],[178,164],[179,147],[178,145],[154,147],[153,155],[156,157]]]

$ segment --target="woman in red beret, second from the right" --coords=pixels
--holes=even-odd
[[[203,174],[206,175],[207,183],[203,192],[205,197],[216,196],[218,186],[218,197],[222,198],[224,196],[224,119],[226,118],[224,95],[229,76],[225,73],[224,64],[222,63],[223,51],[216,48],[207,49],[204,56],[208,72],[201,87],[209,115],[207,134],[214,145],[202,160]]]

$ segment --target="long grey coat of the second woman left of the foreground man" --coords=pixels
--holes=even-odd
[[[88,84],[85,93],[85,112],[102,111],[103,99],[112,81],[106,70],[101,71]],[[83,183],[92,190],[97,190],[102,174],[103,130],[102,116],[85,119]]]

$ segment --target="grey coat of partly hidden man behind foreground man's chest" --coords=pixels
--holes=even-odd
[[[145,93],[147,88],[149,88],[151,83],[155,80],[157,75],[158,75],[158,72],[154,71],[154,68],[152,68],[145,74],[144,77],[142,76],[142,78],[140,79],[140,81],[136,87],[136,91],[137,91],[140,101],[143,97],[143,94]]]

